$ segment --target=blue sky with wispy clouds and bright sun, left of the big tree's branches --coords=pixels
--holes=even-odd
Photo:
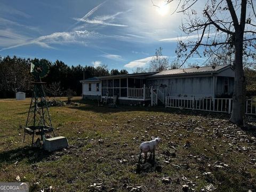
[[[0,55],[67,65],[147,67],[155,50],[175,59],[182,13],[162,0],[2,0]],[[186,38],[194,38],[186,37]],[[201,58],[192,58],[202,63]]]

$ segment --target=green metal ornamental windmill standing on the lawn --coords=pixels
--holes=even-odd
[[[49,66],[45,62],[35,61],[31,63],[30,73],[34,76],[35,82],[23,139],[24,142],[26,134],[32,135],[31,146],[34,144],[35,135],[41,135],[41,141],[44,142],[45,134],[53,132],[43,87],[45,83],[41,81],[41,78],[47,76],[49,70]]]

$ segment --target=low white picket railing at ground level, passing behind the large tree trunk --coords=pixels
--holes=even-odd
[[[177,98],[166,97],[165,107],[185,108],[204,111],[231,113],[233,106],[232,99],[226,98]],[[246,100],[246,114],[256,115],[256,101]]]

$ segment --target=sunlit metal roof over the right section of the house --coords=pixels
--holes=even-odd
[[[163,70],[157,74],[151,75],[151,77],[158,76],[172,76],[172,75],[196,75],[196,74],[209,74],[209,73],[218,73],[220,69],[226,68],[230,65],[220,65],[220,66],[206,66],[206,67],[193,67],[186,69],[171,69],[171,70]],[[231,67],[231,66],[230,66]]]

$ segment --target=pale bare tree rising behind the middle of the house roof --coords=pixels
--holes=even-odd
[[[169,60],[162,54],[163,48],[156,49],[156,53],[149,63],[149,72],[166,70],[170,67]]]

